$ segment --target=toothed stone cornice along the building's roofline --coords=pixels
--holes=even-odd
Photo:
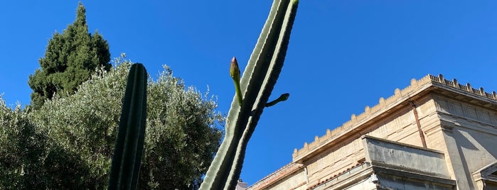
[[[451,81],[444,79],[442,74],[438,76],[428,74],[419,80],[411,79],[410,86],[405,87],[405,89],[395,89],[392,96],[387,99],[381,97],[375,106],[365,106],[364,112],[358,116],[352,114],[350,121],[343,123],[343,125],[334,130],[326,130],[325,135],[321,137],[316,136],[311,143],[304,143],[304,147],[294,150],[293,162],[302,162],[310,155],[314,155],[315,152],[333,145],[333,142],[343,141],[346,138],[360,138],[361,132],[364,133],[365,125],[370,121],[378,117],[386,117],[402,108],[402,106],[408,105],[407,101],[415,101],[435,90],[437,93],[447,92],[448,94],[469,97],[476,101],[484,102],[487,107],[489,104],[497,106],[496,91],[488,93],[482,87],[474,89],[469,83],[463,85],[459,84],[456,79],[452,79]]]

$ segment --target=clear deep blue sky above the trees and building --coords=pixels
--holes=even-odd
[[[171,66],[186,84],[218,96],[227,114],[241,68],[272,1],[82,1],[90,32],[152,75]],[[0,3],[0,91],[7,104],[29,104],[28,75],[48,40],[75,20],[78,1]],[[497,1],[301,0],[274,97],[247,147],[241,177],[249,184],[292,161],[327,128],[336,128],[391,96],[410,79],[444,74],[497,91]]]

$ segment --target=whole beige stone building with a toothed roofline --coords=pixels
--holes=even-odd
[[[497,189],[497,94],[412,79],[248,189]]]

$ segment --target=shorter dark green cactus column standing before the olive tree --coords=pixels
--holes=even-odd
[[[137,189],[146,124],[146,69],[129,69],[108,189]]]

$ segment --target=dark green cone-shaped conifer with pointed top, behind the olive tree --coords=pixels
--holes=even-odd
[[[97,32],[88,33],[85,13],[85,6],[80,2],[74,23],[63,33],[55,32],[48,41],[45,57],[38,60],[41,68],[28,79],[33,89],[32,108],[40,108],[55,93],[63,97],[74,94],[97,67],[107,71],[112,67],[107,40]]]

